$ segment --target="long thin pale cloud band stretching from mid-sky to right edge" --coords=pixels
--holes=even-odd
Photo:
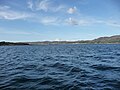
[[[91,25],[109,25],[112,27],[120,27],[120,22],[117,21],[107,21],[107,20],[99,20],[95,18],[57,18],[57,17],[44,17],[39,19],[40,23],[43,25],[77,25],[77,26],[91,26]]]

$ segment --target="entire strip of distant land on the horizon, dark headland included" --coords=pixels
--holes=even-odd
[[[5,45],[46,45],[46,44],[120,44],[120,35],[110,37],[99,37],[93,40],[78,40],[78,41],[39,41],[39,42],[0,42],[0,46]]]

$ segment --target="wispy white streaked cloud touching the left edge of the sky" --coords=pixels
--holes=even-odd
[[[15,20],[31,17],[30,14],[10,10],[9,6],[0,6],[0,19]]]

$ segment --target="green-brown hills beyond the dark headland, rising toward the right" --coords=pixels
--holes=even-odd
[[[39,44],[118,44],[120,43],[120,35],[111,37],[100,37],[94,40],[81,40],[81,41],[43,41],[43,42],[30,42],[30,45]]]

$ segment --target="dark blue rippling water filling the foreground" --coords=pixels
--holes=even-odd
[[[0,90],[120,90],[120,45],[1,46]]]

